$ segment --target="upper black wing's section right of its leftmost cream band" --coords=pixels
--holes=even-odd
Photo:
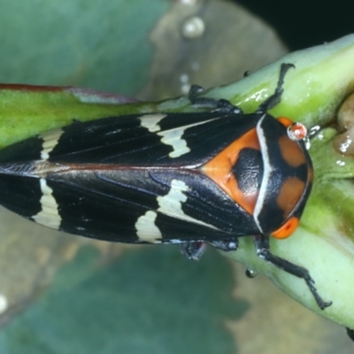
[[[197,165],[215,156],[255,127],[258,121],[257,115],[244,117],[217,112],[168,114],[156,124],[158,131],[150,131],[153,129],[143,127],[142,121],[151,116],[154,115],[74,122],[63,128],[64,134],[50,152],[50,161],[72,164]]]

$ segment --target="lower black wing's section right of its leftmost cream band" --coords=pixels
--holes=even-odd
[[[202,174],[121,169],[58,173],[47,183],[59,206],[60,228],[77,235],[141,242],[136,222],[147,212],[156,214],[154,225],[162,235],[157,242],[230,239],[258,230],[250,215]]]

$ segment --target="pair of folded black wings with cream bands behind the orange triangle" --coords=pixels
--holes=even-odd
[[[154,119],[158,127],[151,123]],[[250,215],[214,182],[197,169],[183,166],[201,165],[255,127],[258,119],[255,114],[209,112],[74,122],[57,133],[39,135],[0,151],[0,162],[24,161],[25,170],[27,165],[36,164],[35,159],[46,155],[49,162],[73,164],[68,173],[53,171],[38,178],[35,169],[31,176],[0,173],[0,203],[50,226],[46,218],[51,210],[44,212],[45,218],[38,217],[42,212],[38,210],[45,209],[40,184],[45,179],[44,186],[50,188],[50,197],[58,204],[59,215],[54,224],[59,220],[59,228],[65,232],[110,241],[142,242],[136,228],[145,227],[148,222],[158,228],[161,242],[230,239],[257,233]],[[184,142],[181,144],[178,139],[186,145],[183,147]],[[175,156],[171,157],[171,153]],[[85,170],[86,164],[91,169]],[[180,184],[173,187],[173,181]],[[161,202],[159,198],[165,199]],[[23,200],[34,203],[22,203]],[[177,213],[171,212],[173,205]],[[137,224],[138,220],[142,222]],[[142,234],[142,228],[140,231]]]

